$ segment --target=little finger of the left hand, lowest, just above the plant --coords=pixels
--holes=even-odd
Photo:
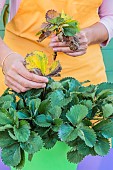
[[[20,92],[25,92],[27,90],[30,90],[30,88],[25,88],[25,87],[21,86],[18,82],[16,82],[11,77],[7,77],[7,81],[6,82],[7,82],[8,85],[12,85],[16,89],[18,89]]]

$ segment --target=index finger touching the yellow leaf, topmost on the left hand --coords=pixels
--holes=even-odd
[[[21,69],[20,69],[21,68]],[[41,82],[41,83],[47,83],[48,79],[43,76],[38,76],[36,74],[30,73],[23,65],[23,63],[15,64],[12,66],[12,70],[16,73],[20,74],[22,77],[34,81],[34,82]],[[7,73],[8,74],[8,73]]]

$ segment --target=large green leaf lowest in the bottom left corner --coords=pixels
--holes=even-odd
[[[1,158],[7,166],[17,166],[21,161],[19,144],[14,144],[2,149]]]

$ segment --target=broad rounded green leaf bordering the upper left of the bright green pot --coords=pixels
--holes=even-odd
[[[31,132],[31,135],[27,142],[20,144],[21,148],[28,152],[28,154],[34,154],[40,151],[43,147],[43,141],[38,134]]]

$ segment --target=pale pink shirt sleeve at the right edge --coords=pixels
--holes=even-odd
[[[109,34],[108,41],[101,44],[102,46],[106,46],[113,38],[113,0],[103,0],[98,13],[100,23],[106,27]]]

